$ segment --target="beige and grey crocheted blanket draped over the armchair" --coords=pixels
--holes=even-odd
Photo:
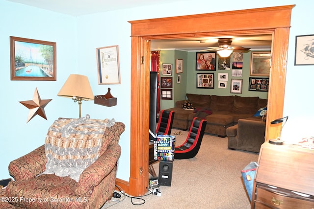
[[[114,123],[114,119],[89,119],[88,115],[55,120],[45,140],[47,163],[42,174],[70,176],[78,182],[83,170],[98,159],[102,146],[108,146],[102,139],[105,129]]]

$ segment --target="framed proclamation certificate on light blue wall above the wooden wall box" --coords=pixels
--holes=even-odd
[[[121,84],[119,46],[96,48],[98,84]]]

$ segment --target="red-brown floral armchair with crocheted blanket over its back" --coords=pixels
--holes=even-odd
[[[114,191],[124,130],[114,119],[55,120],[44,145],[9,164],[6,197],[16,208],[101,208]]]

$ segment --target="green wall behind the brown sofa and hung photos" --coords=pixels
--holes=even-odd
[[[183,73],[176,73],[176,59],[183,59]],[[218,59],[218,57],[216,57]],[[160,100],[160,108],[168,109],[175,106],[175,102],[185,99],[185,93],[210,94],[210,95],[238,95],[238,96],[259,96],[267,99],[268,92],[249,91],[249,77],[265,77],[250,76],[251,52],[243,53],[242,77],[232,76],[232,60],[231,69],[217,70],[218,62],[216,62],[216,70],[196,70],[196,52],[187,52],[180,50],[161,50],[160,51],[160,70],[162,64],[172,64],[172,75],[162,75],[160,77],[172,77],[172,100]],[[217,60],[218,61],[218,60]],[[214,73],[214,89],[200,89],[196,87],[197,73]],[[218,73],[228,73],[227,88],[218,88]],[[177,83],[177,75],[181,75],[181,83]],[[242,93],[230,93],[231,79],[243,79]]]

